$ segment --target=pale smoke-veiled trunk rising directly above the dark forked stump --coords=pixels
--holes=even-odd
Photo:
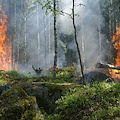
[[[40,32],[39,32],[39,3],[37,2],[37,51],[38,51],[38,66],[40,60]]]

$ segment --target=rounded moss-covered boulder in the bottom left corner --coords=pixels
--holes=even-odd
[[[36,98],[28,96],[21,87],[10,88],[0,95],[0,120],[34,120],[37,117],[42,115]]]

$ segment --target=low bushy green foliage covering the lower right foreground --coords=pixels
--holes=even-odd
[[[56,101],[55,120],[106,120],[120,118],[120,84],[94,84],[71,89]]]

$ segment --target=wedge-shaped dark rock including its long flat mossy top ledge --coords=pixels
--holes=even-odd
[[[21,86],[28,95],[35,96],[39,108],[48,114],[54,112],[56,108],[55,101],[61,98],[61,95],[69,91],[70,88],[80,87],[73,83],[54,84],[45,82],[32,82],[16,84]]]

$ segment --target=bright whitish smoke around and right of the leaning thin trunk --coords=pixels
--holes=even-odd
[[[83,4],[79,6],[80,4]],[[99,15],[99,0],[76,0],[75,2],[75,14],[79,15],[75,17],[77,26],[77,37],[79,47],[84,54],[85,63],[87,67],[93,67],[101,58],[99,52],[99,33],[98,33],[98,19],[103,24],[103,17]],[[61,8],[64,12],[72,13],[72,0],[61,0]],[[72,19],[65,15],[59,16],[60,30],[64,34],[72,34],[73,25]],[[101,35],[101,37],[103,37]],[[82,39],[84,42],[84,52],[82,52]],[[72,42],[69,45],[69,49],[76,50],[75,44]],[[83,59],[83,58],[82,58]]]

